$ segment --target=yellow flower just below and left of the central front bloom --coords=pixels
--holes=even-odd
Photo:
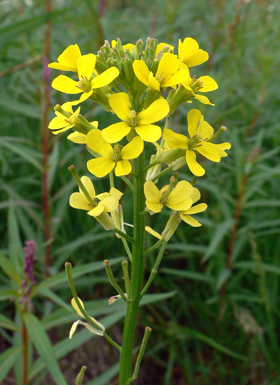
[[[101,178],[116,166],[116,176],[127,175],[131,172],[131,164],[128,159],[137,158],[144,148],[143,140],[136,136],[122,149],[116,144],[113,148],[103,139],[101,131],[91,130],[86,136],[86,144],[90,149],[101,155],[100,158],[90,159],[87,162],[88,170]]]

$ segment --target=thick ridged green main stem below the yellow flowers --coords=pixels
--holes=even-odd
[[[144,151],[132,161],[133,171],[137,176],[133,178],[133,238],[132,263],[130,276],[130,295],[127,303],[126,318],[122,336],[122,350],[120,356],[119,385],[127,385],[131,377],[131,362],[134,333],[136,327],[139,301],[141,298],[141,285],[144,273],[144,239],[145,216],[139,215],[145,208],[144,198]]]

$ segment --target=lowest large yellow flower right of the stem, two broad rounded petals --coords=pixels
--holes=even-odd
[[[159,213],[164,204],[172,210],[187,210],[193,201],[190,196],[193,193],[193,186],[187,181],[180,181],[168,196],[164,196],[168,190],[168,185],[161,190],[152,181],[144,183],[144,194],[146,196],[146,206],[154,213]]]

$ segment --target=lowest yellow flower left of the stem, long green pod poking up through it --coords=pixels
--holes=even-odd
[[[87,192],[91,196],[91,198],[96,201],[95,190],[92,184],[91,179],[88,176],[82,176],[81,181],[86,187]],[[79,187],[80,192],[73,192],[70,195],[69,203],[71,207],[75,209],[89,210],[87,214],[97,217],[102,213],[109,213],[117,209],[119,201],[114,196],[109,196],[107,198],[102,199],[96,207],[92,206],[91,203],[87,200],[86,196],[82,192]]]

